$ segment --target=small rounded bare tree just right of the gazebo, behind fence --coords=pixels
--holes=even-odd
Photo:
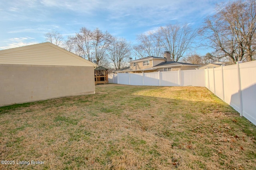
[[[131,55],[131,45],[124,38],[115,38],[108,48],[109,59],[116,70],[124,68]]]

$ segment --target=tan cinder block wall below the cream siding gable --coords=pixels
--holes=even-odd
[[[92,66],[0,64],[0,106],[94,93]]]

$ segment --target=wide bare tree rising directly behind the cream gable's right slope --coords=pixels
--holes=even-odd
[[[107,49],[113,41],[113,36],[108,31],[102,32],[98,28],[91,31],[82,27],[80,33],[76,33],[74,37],[69,37],[69,40],[78,47],[82,57],[89,61],[95,60],[96,64],[100,64],[100,60],[108,55]]]

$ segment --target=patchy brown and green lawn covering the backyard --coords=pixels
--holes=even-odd
[[[0,160],[6,170],[254,170],[256,127],[207,88],[103,84],[0,107]]]

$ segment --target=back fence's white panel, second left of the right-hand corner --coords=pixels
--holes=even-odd
[[[160,72],[160,86],[180,86],[179,71]]]

